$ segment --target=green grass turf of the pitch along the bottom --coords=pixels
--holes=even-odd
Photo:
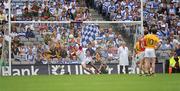
[[[0,77],[0,91],[180,91],[180,74]]]

